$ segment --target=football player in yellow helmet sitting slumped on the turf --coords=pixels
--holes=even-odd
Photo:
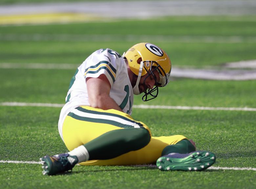
[[[155,163],[160,170],[204,170],[211,152],[196,151],[182,135],[153,137],[131,117],[133,95],[158,96],[169,83],[171,61],[156,45],[139,43],[123,56],[111,49],[92,53],[77,69],[61,110],[58,129],[68,153],[40,158],[44,175],[80,165]]]

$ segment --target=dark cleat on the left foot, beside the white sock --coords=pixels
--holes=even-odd
[[[43,175],[56,175],[66,171],[72,171],[72,168],[78,162],[76,156],[70,156],[68,153],[55,156],[44,156],[39,160],[43,164]]]

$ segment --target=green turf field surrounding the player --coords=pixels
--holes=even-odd
[[[165,49],[173,67],[221,69],[226,62],[256,59],[253,18],[167,17],[0,26],[0,66],[14,65],[0,68],[0,103],[63,104],[76,66],[99,48],[122,54],[133,44],[148,41]],[[233,40],[234,36],[239,40]],[[209,38],[212,40],[206,40]],[[26,68],[35,63],[71,64],[74,69]],[[16,64],[25,66],[15,68]],[[157,99],[143,103],[137,96],[134,104],[256,107],[255,80],[171,80]],[[67,152],[58,134],[59,113],[59,107],[0,106],[1,188],[256,188],[255,111],[133,109],[133,118],[146,123],[153,135],[185,135],[199,150],[214,152],[214,167],[219,170],[161,172],[154,166],[75,166],[72,174],[43,176],[41,165],[31,163],[46,154]],[[254,169],[234,170],[249,167]]]

